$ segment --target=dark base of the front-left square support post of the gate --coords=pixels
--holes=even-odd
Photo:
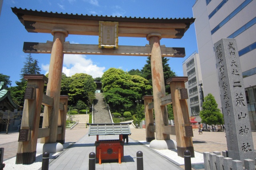
[[[17,153],[15,164],[32,164],[36,161],[36,151]]]

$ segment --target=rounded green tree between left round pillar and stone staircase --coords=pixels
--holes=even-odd
[[[88,93],[95,93],[96,84],[91,75],[85,73],[76,73],[71,76],[69,84],[70,101],[75,104],[78,100],[87,102]]]

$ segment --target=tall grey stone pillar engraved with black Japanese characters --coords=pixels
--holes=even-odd
[[[244,82],[235,39],[214,43],[220,99],[226,128],[228,156],[234,160],[252,159],[252,141]]]

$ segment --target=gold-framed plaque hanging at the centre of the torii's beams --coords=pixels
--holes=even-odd
[[[99,48],[118,48],[118,22],[99,21]]]

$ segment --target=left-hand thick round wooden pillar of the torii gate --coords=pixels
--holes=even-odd
[[[60,87],[63,67],[63,43],[68,32],[62,29],[52,30],[53,45],[49,68],[49,83],[46,95],[53,98],[53,105],[44,107],[44,118],[42,127],[50,128],[50,136],[41,138],[41,143],[54,143],[57,140],[58,114],[60,105]]]

